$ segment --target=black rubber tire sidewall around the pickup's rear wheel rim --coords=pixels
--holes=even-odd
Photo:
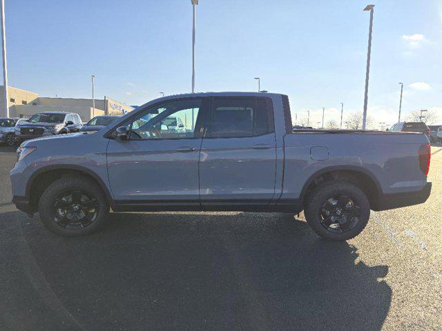
[[[343,233],[328,231],[322,225],[319,210],[327,199],[336,194],[344,194],[351,198],[361,210],[358,216],[358,223],[351,230]],[[334,241],[345,241],[356,237],[364,230],[370,217],[369,201],[361,189],[347,181],[329,181],[318,185],[307,197],[305,217],[311,228],[325,239]]]

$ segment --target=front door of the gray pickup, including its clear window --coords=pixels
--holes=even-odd
[[[164,101],[124,123],[109,141],[108,175],[117,203],[199,206],[202,99]]]

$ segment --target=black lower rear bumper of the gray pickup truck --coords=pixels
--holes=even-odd
[[[372,206],[372,210],[389,210],[406,207],[407,205],[419,205],[419,203],[424,203],[430,197],[431,187],[432,183],[428,182],[420,191],[381,194],[376,204]]]

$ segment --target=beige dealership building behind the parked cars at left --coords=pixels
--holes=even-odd
[[[3,105],[3,86],[0,86],[0,105]],[[120,101],[104,97],[95,99],[69,99],[39,97],[39,94],[8,86],[9,117],[29,118],[37,112],[75,112],[81,121],[87,122],[95,116],[104,114],[122,115],[134,108]],[[4,116],[4,111],[0,116]]]

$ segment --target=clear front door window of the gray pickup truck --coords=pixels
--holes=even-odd
[[[201,103],[201,99],[184,99],[148,108],[128,124],[130,137],[135,140],[200,138]]]

